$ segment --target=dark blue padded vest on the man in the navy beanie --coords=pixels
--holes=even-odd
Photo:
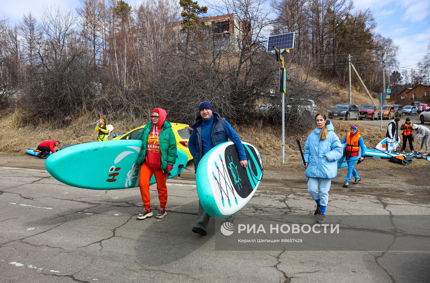
[[[227,135],[225,134],[225,119],[221,118],[221,116],[212,112],[214,117],[214,122],[212,125],[212,142],[214,146],[217,146],[220,143],[225,143],[227,139]],[[197,171],[197,165],[200,162],[200,159],[203,157],[203,149],[202,149],[202,116],[198,116],[196,122],[194,122],[191,127],[194,129],[194,143],[196,145],[196,156],[194,156],[194,170]]]

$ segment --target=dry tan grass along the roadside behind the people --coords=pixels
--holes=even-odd
[[[0,136],[0,154],[8,155],[24,155],[25,149],[36,147],[39,143],[45,140],[61,140],[61,145],[88,143],[97,139],[97,133],[94,131],[95,122],[87,117],[80,117],[71,121],[66,128],[32,128],[30,126],[24,128],[16,128],[13,122],[13,115],[0,118],[0,127],[2,135]],[[124,121],[109,122],[115,126],[114,133],[127,132],[138,126],[141,126],[148,121],[135,121],[134,123]],[[333,120],[333,126],[339,139],[342,140],[350,129],[350,126],[355,121],[340,121]],[[277,168],[286,170],[301,170],[301,155],[298,150],[296,138],[301,137],[301,145],[304,146],[308,134],[312,129],[309,129],[304,134],[296,135],[289,134],[292,131],[286,128],[285,137],[285,164],[281,164],[281,127],[263,126],[261,128],[249,125],[233,126],[240,138],[243,141],[251,143],[257,147],[263,157],[266,168]],[[385,131],[381,132],[377,128],[367,125],[359,125],[359,129],[364,138],[365,144],[369,148],[373,148],[379,141],[385,137]],[[295,132],[295,131],[294,131]],[[399,167],[400,165],[389,164],[383,158],[383,161],[367,161],[366,164],[372,164],[372,168],[383,168],[387,166]],[[414,167],[426,166],[427,161],[413,162],[408,165],[408,169]]]

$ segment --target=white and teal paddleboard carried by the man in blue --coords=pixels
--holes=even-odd
[[[258,150],[243,143],[248,167],[240,165],[232,141],[207,152],[197,167],[197,194],[206,213],[225,218],[237,213],[254,195],[263,177],[263,161]]]

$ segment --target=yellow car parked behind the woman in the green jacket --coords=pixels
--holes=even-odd
[[[127,133],[113,135],[114,138],[112,140],[135,140],[140,136],[143,128],[145,128],[144,125]],[[172,130],[175,133],[176,146],[188,155],[188,161],[190,161],[193,159],[193,156],[190,153],[190,149],[188,149],[188,140],[193,129],[187,124],[172,123]]]

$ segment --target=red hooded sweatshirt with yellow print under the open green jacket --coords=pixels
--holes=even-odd
[[[163,128],[164,121],[166,120],[167,113],[164,109],[156,108],[152,110],[152,113],[158,113],[160,118],[158,118],[157,125],[152,123],[152,130],[148,135],[148,147],[145,157],[146,164],[153,170],[159,170],[161,163],[161,150],[160,150],[160,132]]]

